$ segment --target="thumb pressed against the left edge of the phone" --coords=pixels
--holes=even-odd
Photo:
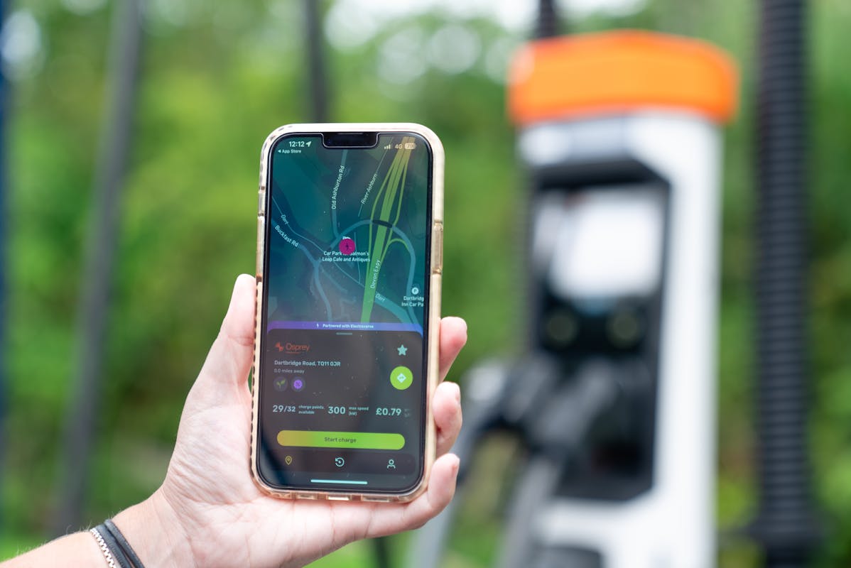
[[[207,354],[198,382],[220,385],[243,384],[248,381],[254,355],[254,302],[256,281],[247,274],[239,275],[233,286],[231,305],[222,321],[219,336]]]

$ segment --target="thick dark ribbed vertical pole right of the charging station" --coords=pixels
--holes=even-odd
[[[762,0],[757,94],[757,374],[765,565],[808,565],[819,540],[807,444],[806,3]]]

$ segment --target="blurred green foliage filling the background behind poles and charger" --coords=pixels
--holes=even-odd
[[[43,45],[40,58],[14,82],[9,105],[3,346],[9,404],[0,494],[0,553],[6,556],[49,536],[62,484],[59,450],[74,386],[77,298],[86,277],[83,246],[115,6],[91,3],[95,9],[84,14],[65,7],[87,4],[21,0],[14,7],[35,17]],[[180,3],[180,21],[168,17],[168,2],[149,6],[85,510],[90,522],[146,497],[162,480],[184,397],[218,330],[232,282],[239,272],[254,270],[260,144],[278,125],[308,118],[300,2],[187,0]],[[814,0],[808,6],[814,490],[827,535],[821,564],[849,565],[851,74],[844,57],[851,4]],[[756,6],[740,0],[654,0],[637,14],[571,22],[572,31],[635,26],[701,37],[728,49],[740,64],[740,115],[726,130],[723,188],[723,530],[745,525],[757,503],[751,419],[756,18]],[[429,67],[405,84],[382,78],[382,58],[394,37],[410,37],[417,47],[448,24],[479,38],[483,55],[471,70],[448,74]],[[511,353],[523,342],[523,173],[505,117],[505,86],[485,70],[486,54],[521,41],[523,33],[494,21],[435,10],[391,19],[365,43],[328,48],[334,120],[422,122],[443,139],[444,312],[465,316],[470,328],[454,379],[474,361]],[[492,446],[484,460],[510,461],[507,442]],[[483,565],[489,557],[498,533],[490,518],[505,501],[504,487],[488,477],[493,470],[476,470],[481,490],[461,515],[451,565]],[[403,540],[396,543],[402,554]],[[722,565],[755,565],[757,554],[746,542],[724,544]],[[326,564],[366,559],[365,550],[355,548]]]

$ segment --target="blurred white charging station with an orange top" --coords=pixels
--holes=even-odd
[[[719,125],[735,99],[721,50],[656,33],[546,38],[511,65],[529,347],[608,392],[523,523],[583,566],[716,561]]]

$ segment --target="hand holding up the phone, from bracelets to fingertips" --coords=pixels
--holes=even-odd
[[[254,295],[254,278],[237,278],[219,337],[186,398],[163,486],[115,519],[146,564],[305,565],[348,542],[423,525],[454,495],[458,457],[447,452],[460,430],[460,390],[443,382],[432,399],[437,460],[414,501],[287,500],[260,491],[249,468]],[[465,322],[443,318],[441,380],[465,341]]]

